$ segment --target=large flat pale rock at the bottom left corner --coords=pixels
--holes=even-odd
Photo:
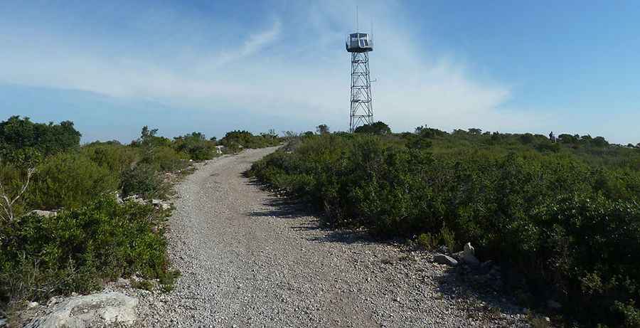
[[[46,314],[33,319],[26,328],[131,327],[138,300],[119,292],[68,297],[52,302]]]

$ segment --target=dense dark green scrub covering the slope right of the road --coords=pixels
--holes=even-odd
[[[358,132],[304,134],[249,174],[331,226],[471,242],[509,269],[527,306],[553,299],[588,327],[640,327],[640,149],[568,134]]]

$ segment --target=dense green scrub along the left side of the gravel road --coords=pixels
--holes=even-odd
[[[157,134],[143,127],[128,145],[81,146],[73,122],[17,116],[0,122],[0,311],[133,274],[171,286],[176,273],[169,270],[163,229],[169,211],[120,203],[116,195],[166,198],[166,176],[218,156],[218,143],[198,132],[174,139]],[[233,139],[238,149],[279,142],[275,134],[228,136],[225,142]]]

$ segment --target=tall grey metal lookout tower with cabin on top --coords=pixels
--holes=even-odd
[[[351,33],[345,43],[351,53],[351,108],[349,112],[349,132],[356,127],[373,123],[373,95],[369,72],[369,52],[373,51],[373,41],[368,33]]]

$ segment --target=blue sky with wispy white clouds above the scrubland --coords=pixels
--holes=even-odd
[[[344,35],[373,20],[375,119],[640,142],[638,1],[2,1],[0,115],[83,141],[348,127]]]

